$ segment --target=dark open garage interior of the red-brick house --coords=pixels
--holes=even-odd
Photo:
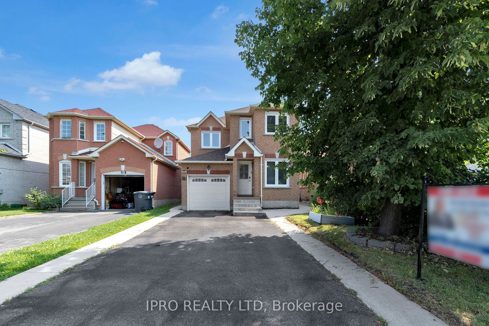
[[[105,208],[133,209],[133,193],[143,190],[144,176],[105,176]]]

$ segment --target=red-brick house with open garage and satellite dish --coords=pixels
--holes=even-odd
[[[130,127],[100,108],[50,112],[46,118],[49,187],[56,193],[74,188],[73,201],[93,197],[87,207],[102,210],[108,192],[122,190],[155,191],[155,206],[180,201],[175,160],[187,158],[190,149],[170,131],[153,124]]]

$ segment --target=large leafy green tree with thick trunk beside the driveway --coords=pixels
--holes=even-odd
[[[263,0],[236,43],[266,103],[300,124],[277,136],[289,172],[309,172],[341,210],[383,205],[399,232],[423,175],[470,177],[487,162],[486,0]]]

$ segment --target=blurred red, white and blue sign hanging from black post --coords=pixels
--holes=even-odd
[[[489,268],[489,186],[428,187],[429,251]]]

